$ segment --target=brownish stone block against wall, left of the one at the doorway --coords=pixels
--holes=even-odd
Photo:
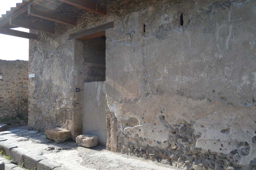
[[[62,128],[51,128],[46,129],[45,134],[52,140],[65,141],[70,138],[71,132]]]

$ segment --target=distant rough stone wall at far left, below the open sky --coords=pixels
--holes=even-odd
[[[19,114],[19,87],[28,87],[28,61],[0,60],[0,119]],[[21,89],[21,114],[28,115],[28,89]]]

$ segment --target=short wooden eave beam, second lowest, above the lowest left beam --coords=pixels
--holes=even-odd
[[[32,29],[32,30],[36,30],[36,31],[40,31],[40,32],[54,33],[54,28],[52,28],[52,27],[48,27],[43,24],[37,24],[37,23],[29,22],[29,21],[24,21],[24,20],[17,19],[17,18],[11,18],[10,25],[27,28],[27,29]]]

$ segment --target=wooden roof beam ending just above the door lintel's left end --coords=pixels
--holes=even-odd
[[[73,26],[77,25],[76,18],[61,15],[61,14],[58,14],[55,12],[49,12],[49,11],[44,12],[44,11],[36,9],[32,5],[28,6],[28,15],[32,15],[32,16],[39,17],[39,18],[44,18],[44,19],[47,19],[50,21],[59,22],[61,24],[73,25]]]

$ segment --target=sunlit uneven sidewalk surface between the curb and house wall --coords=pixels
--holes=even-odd
[[[0,138],[38,152],[73,170],[179,170],[160,163],[107,151],[104,146],[93,148],[77,146],[75,142],[53,143],[45,138],[44,132],[29,131],[27,126],[10,128],[12,133]]]

